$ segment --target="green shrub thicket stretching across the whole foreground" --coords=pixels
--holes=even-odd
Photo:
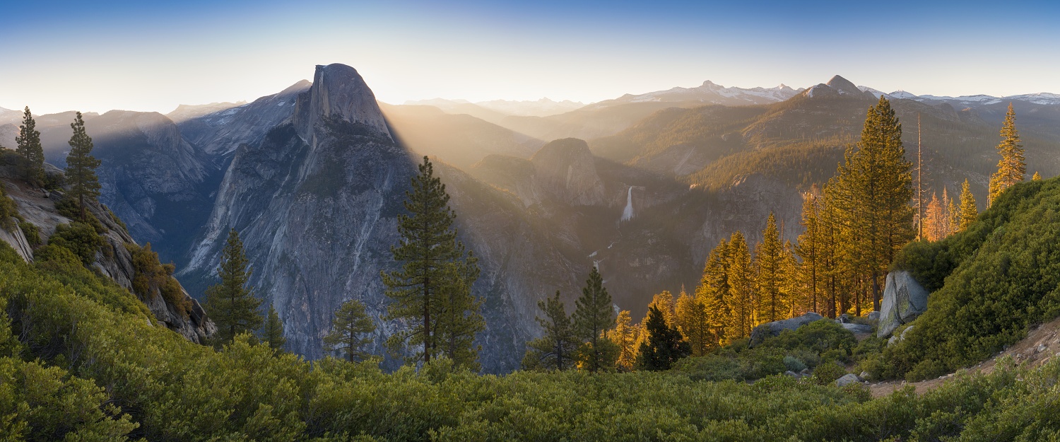
[[[237,338],[220,351],[152,326],[136,297],[72,253],[0,245],[0,440],[876,441],[1057,438],[1060,361],[925,395],[869,400],[767,376],[476,375],[313,364]]]

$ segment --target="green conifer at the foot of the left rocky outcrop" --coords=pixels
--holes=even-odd
[[[250,263],[243,251],[243,242],[235,229],[228,231],[228,242],[220,254],[217,277],[220,283],[206,289],[206,311],[217,324],[216,343],[230,342],[240,333],[258,330],[262,316],[258,307],[262,300],[247,286]]]

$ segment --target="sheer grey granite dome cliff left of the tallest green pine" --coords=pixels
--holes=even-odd
[[[393,266],[389,248],[414,172],[356,71],[320,66],[295,113],[235,152],[181,276],[211,282],[234,228],[253,267],[250,283],[279,313],[288,348],[320,357],[341,302],[363,300],[377,321],[385,314],[378,273]],[[392,328],[376,331],[381,354]]]

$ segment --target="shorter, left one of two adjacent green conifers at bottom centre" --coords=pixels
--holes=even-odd
[[[578,347],[582,341],[575,333],[575,325],[560,301],[560,291],[552,298],[537,301],[537,308],[545,314],[545,319],[534,319],[545,329],[545,336],[527,343],[527,353],[523,357],[523,368],[543,368],[546,370],[567,370],[575,366]]]

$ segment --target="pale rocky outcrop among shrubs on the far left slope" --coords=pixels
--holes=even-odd
[[[55,233],[56,226],[70,223],[70,218],[61,215],[55,208],[55,204],[63,199],[63,194],[41,191],[17,178],[15,163],[20,160],[14,155],[0,154],[0,185],[4,185],[7,194],[15,200],[19,215],[26,223],[37,227],[40,243],[47,244],[48,238]],[[50,166],[50,164],[48,165]],[[49,174],[61,174],[61,172],[50,166]],[[136,244],[136,242],[105,207],[91,205],[88,209],[89,213],[106,228],[106,232],[103,233],[106,245],[96,252],[92,267],[100,275],[110,278],[118,285],[135,293],[132,280],[136,277],[136,269],[132,266],[131,252],[126,248],[126,245]],[[26,262],[33,261],[30,241],[26,241],[20,229],[16,228],[15,231],[8,232],[0,228],[0,241],[4,241],[15,248]],[[164,299],[157,288],[152,289],[147,296],[141,297],[140,301],[151,310],[160,323],[179,333],[188,340],[201,343],[217,329],[213,321],[207,317],[198,301],[192,298],[183,287],[180,290],[183,301],[191,304],[191,311],[187,315]]]

